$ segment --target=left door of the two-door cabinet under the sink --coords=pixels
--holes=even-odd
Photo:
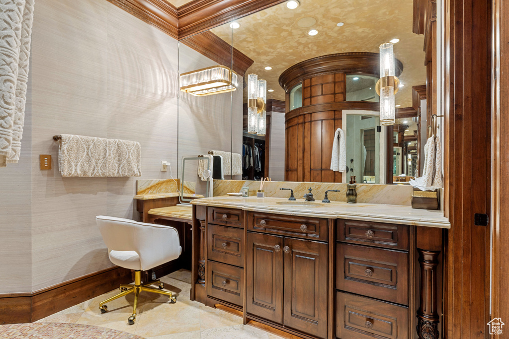
[[[282,324],[283,237],[247,233],[246,312]]]

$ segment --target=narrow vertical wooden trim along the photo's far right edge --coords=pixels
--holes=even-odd
[[[509,319],[509,3],[493,0],[490,320]],[[502,328],[505,335],[509,330]],[[489,334],[489,333],[488,333]],[[492,335],[492,338],[501,335]]]

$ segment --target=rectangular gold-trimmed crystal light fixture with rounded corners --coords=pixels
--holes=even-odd
[[[220,65],[182,73],[179,78],[180,90],[196,97],[232,92],[238,81],[235,72]]]

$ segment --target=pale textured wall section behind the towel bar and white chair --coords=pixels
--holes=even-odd
[[[38,0],[32,39],[37,291],[112,265],[96,215],[137,218],[137,178],[62,178],[51,137],[138,141],[142,178],[169,177],[159,168],[177,160],[177,41],[104,0]],[[38,169],[39,154],[53,156],[52,170]]]

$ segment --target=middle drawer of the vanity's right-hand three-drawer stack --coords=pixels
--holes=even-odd
[[[336,288],[408,305],[408,253],[338,243]]]

